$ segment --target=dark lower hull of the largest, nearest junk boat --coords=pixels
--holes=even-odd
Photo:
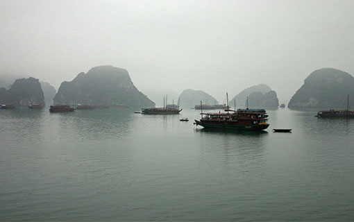
[[[221,128],[221,129],[229,129],[229,130],[254,130],[254,131],[259,131],[259,130],[265,130],[268,128],[269,124],[255,124],[251,126],[246,126],[246,125],[228,125],[226,122],[221,122],[221,123],[204,123],[198,120],[194,120],[196,126],[203,126],[204,128]]]

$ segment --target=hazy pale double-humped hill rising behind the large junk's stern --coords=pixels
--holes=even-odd
[[[231,99],[230,106],[233,107],[236,102],[236,108],[245,108],[247,96],[249,108],[277,108],[279,106],[276,92],[265,84],[253,85],[242,90]]]

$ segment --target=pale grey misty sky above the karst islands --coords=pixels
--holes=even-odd
[[[222,102],[266,83],[286,102],[315,69],[354,74],[354,1],[4,1],[0,73],[59,87],[113,65],[140,91]]]

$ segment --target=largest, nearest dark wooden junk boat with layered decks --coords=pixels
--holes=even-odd
[[[202,108],[203,109],[203,108]],[[225,110],[219,113],[203,113],[201,119],[194,120],[196,126],[204,128],[222,128],[230,130],[265,130],[268,128],[267,112],[264,109]],[[205,115],[203,117],[203,115]]]

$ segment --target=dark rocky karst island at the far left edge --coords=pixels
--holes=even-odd
[[[14,105],[44,105],[44,94],[37,78],[19,78],[10,89],[0,88],[0,103]]]

